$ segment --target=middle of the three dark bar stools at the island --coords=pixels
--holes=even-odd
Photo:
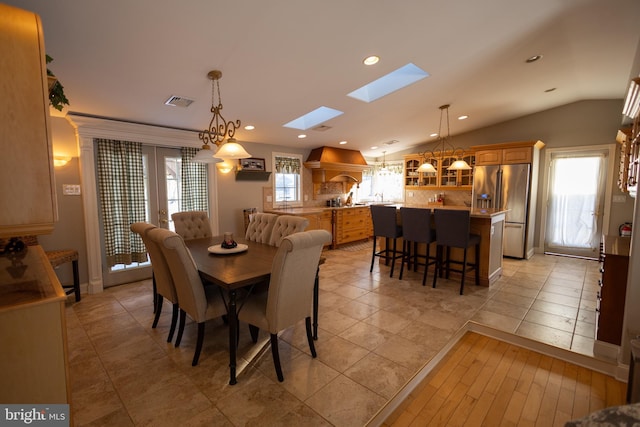
[[[431,209],[419,208],[400,208],[400,217],[402,218],[402,263],[400,264],[400,277],[404,272],[404,264],[408,264],[411,268],[413,263],[413,271],[418,271],[418,266],[424,266],[424,275],[422,276],[422,286],[427,281],[427,271],[430,265],[436,265],[436,257],[429,255],[432,242],[436,241],[436,231],[431,228]],[[427,246],[426,254],[418,253],[418,243],[425,243]],[[413,250],[411,247],[413,246]],[[420,262],[424,260],[424,262]],[[436,283],[437,265],[433,272],[433,284]]]

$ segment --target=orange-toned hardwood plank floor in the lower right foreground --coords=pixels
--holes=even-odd
[[[563,426],[624,403],[612,377],[466,333],[384,426]]]

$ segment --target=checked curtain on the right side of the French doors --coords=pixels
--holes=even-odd
[[[182,147],[180,209],[183,211],[209,211],[207,165],[191,161],[199,150]]]

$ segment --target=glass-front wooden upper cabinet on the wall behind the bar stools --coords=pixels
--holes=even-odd
[[[473,168],[475,156],[465,154],[462,157],[469,166]],[[457,157],[444,156],[440,158],[427,159],[435,168],[436,172],[420,172],[418,168],[424,162],[424,158],[419,154],[411,154],[404,157],[404,185],[408,189],[434,190],[447,188],[449,190],[461,189],[470,190],[473,184],[473,169],[470,170],[449,170]]]

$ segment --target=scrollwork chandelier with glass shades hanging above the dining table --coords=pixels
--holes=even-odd
[[[211,80],[211,112],[213,117],[209,122],[209,128],[198,134],[198,138],[204,143],[202,149],[196,154],[191,161],[197,163],[217,163],[224,160],[229,165],[228,160],[246,159],[251,154],[236,142],[234,135],[236,129],[240,127],[240,120],[235,122],[227,122],[222,117],[222,98],[220,97],[220,78],[222,72],[219,70],[209,71],[207,77]],[[218,102],[216,104],[216,92],[218,94]],[[225,139],[227,142],[225,143]],[[216,145],[218,150],[215,154],[211,150],[211,146]]]

